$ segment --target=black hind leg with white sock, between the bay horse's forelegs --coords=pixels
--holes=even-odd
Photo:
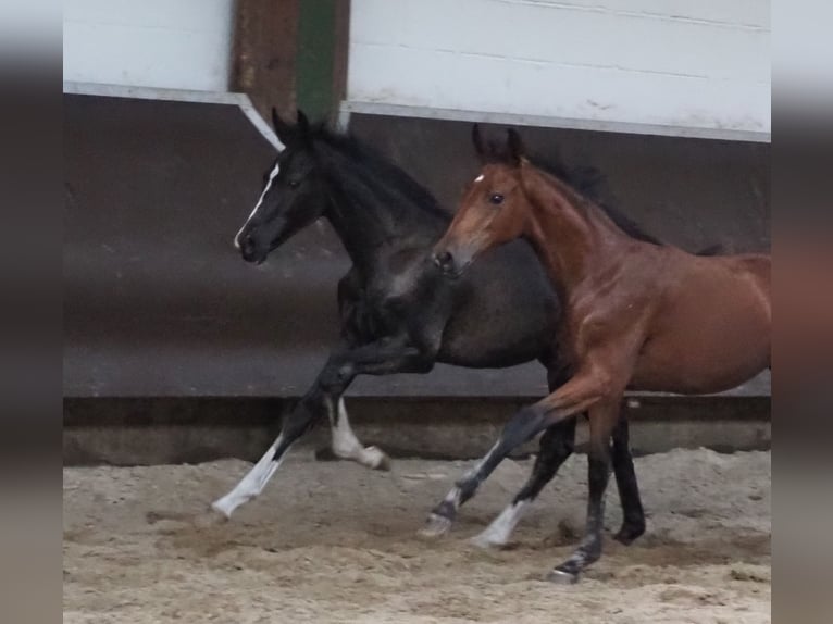
[[[540,437],[538,457],[530,478],[512,502],[482,533],[472,538],[472,544],[483,548],[506,546],[530,503],[537,498],[558,469],[573,453],[575,447],[575,419],[568,419],[549,427]]]

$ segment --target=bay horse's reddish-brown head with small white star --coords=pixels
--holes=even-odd
[[[469,184],[451,225],[434,247],[434,262],[449,277],[459,277],[484,251],[521,236],[527,208],[521,186],[524,149],[521,137],[508,132],[503,149],[485,146],[475,124],[472,140],[484,163]]]

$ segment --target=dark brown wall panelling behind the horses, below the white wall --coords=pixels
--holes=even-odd
[[[464,123],[355,115],[356,134],[451,207],[476,171]],[[599,165],[622,207],[687,249],[769,245],[769,146],[524,128]],[[297,397],[337,337],[348,261],[313,226],[260,267],[232,238],[272,149],[235,107],[64,96],[64,395]],[[363,378],[358,396],[535,397],[537,364]],[[768,377],[745,394],[767,395]]]

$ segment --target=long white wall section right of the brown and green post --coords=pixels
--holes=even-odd
[[[352,0],[348,100],[764,134],[769,15],[769,0]]]

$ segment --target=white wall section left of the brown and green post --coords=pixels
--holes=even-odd
[[[64,0],[64,80],[226,91],[234,0]]]

